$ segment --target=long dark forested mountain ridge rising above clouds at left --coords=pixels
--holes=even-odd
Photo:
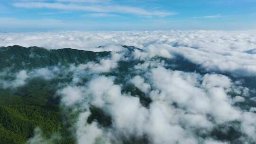
[[[0,69],[13,67],[15,70],[21,70],[57,64],[97,62],[109,55],[110,52],[91,52],[71,48],[47,50],[37,46],[13,45],[0,47]]]

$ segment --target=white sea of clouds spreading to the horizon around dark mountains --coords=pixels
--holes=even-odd
[[[112,51],[99,63],[22,70],[13,74],[14,80],[0,81],[3,88],[15,88],[36,76],[50,80],[60,72],[71,72],[72,81],[62,84],[56,94],[62,97],[62,105],[79,111],[73,126],[77,144],[122,144],[124,139],[145,137],[150,144],[229,144],[211,135],[216,129],[229,133],[230,127],[241,134],[232,144],[256,142],[255,108],[238,106],[255,96],[255,90],[245,87],[245,81],[239,79],[255,79],[255,31],[0,33],[0,45]],[[133,45],[143,51],[129,52],[121,45]],[[180,56],[198,65],[203,73],[177,71],[157,59],[175,60]],[[143,63],[130,67],[132,74],[125,75],[127,81],[117,83],[117,76],[103,73],[117,72],[119,61]],[[88,76],[90,80],[81,85]],[[142,91],[151,100],[149,106],[123,92],[125,84]],[[109,115],[112,125],[103,127],[97,121],[88,124],[91,106]],[[28,143],[38,143],[38,137],[41,138],[36,135]]]

